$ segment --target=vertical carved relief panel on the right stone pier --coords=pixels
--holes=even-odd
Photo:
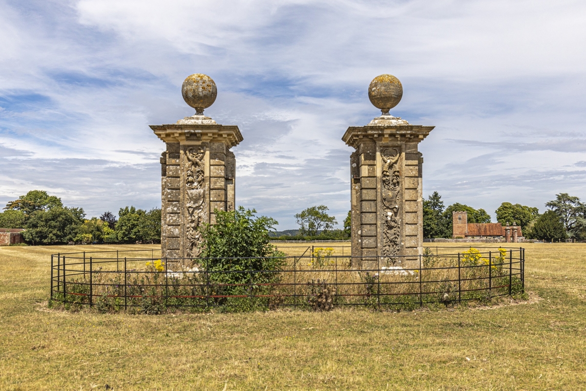
[[[398,221],[400,173],[398,161],[401,157],[397,148],[387,148],[381,153],[382,158],[382,201],[383,201],[383,249],[385,257],[397,256],[401,241]],[[394,263],[394,261],[393,261]]]

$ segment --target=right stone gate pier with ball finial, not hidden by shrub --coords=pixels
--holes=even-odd
[[[423,253],[423,157],[418,144],[433,126],[411,125],[389,110],[403,96],[390,74],[370,83],[369,98],[382,115],[366,126],[349,127],[342,137],[350,155],[353,267],[368,257],[397,266]]]

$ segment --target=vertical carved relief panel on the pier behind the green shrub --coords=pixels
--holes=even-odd
[[[202,253],[202,234],[199,227],[205,219],[204,210],[204,161],[203,152],[189,148],[185,152],[186,166],[186,206],[187,219],[185,223],[185,237],[187,242],[188,257],[195,258]]]

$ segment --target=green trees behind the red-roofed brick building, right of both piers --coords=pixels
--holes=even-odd
[[[495,210],[496,221],[502,225],[520,226],[527,239],[539,240],[586,240],[586,204],[568,193],[556,195],[546,202],[543,214],[539,209],[503,202]],[[423,201],[423,235],[425,238],[451,238],[453,232],[452,212],[467,212],[468,223],[490,223],[484,209],[474,209],[461,203],[447,208],[438,192],[433,192]]]

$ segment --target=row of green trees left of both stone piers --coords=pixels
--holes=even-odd
[[[86,219],[83,208],[64,206],[46,191],[32,190],[8,202],[0,227],[24,228],[28,244],[161,243],[161,209],[126,206]]]

